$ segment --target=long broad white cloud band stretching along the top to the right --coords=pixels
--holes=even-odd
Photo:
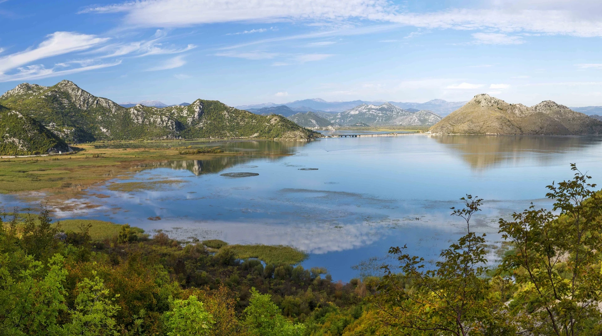
[[[494,30],[500,33],[602,36],[598,1],[503,1],[481,8],[451,8],[426,13],[401,11],[386,0],[138,0],[89,7],[81,13],[125,13],[133,26],[176,27],[218,22],[309,23],[371,20],[426,29]],[[564,3],[560,5],[560,3]],[[553,5],[550,5],[552,3]],[[570,4],[570,5],[568,5]],[[517,43],[517,40],[508,40]]]

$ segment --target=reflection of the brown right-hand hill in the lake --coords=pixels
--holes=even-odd
[[[534,136],[534,135],[431,135],[448,149],[459,152],[473,169],[483,170],[524,160],[542,164],[557,160],[557,154],[582,151],[600,145],[602,138],[594,136]]]

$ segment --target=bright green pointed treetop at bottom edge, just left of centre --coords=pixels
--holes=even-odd
[[[282,316],[280,308],[272,302],[270,294],[260,294],[251,288],[249,306],[244,309],[245,325],[252,336],[301,336],[305,325],[293,325]]]

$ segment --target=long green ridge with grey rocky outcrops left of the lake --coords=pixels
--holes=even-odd
[[[188,106],[124,108],[73,82],[45,87],[23,83],[0,96],[0,104],[39,120],[67,142],[138,138],[296,138],[318,134],[281,116],[258,116],[219,101],[197,99]]]

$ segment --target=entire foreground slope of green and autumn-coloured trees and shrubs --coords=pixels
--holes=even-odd
[[[467,234],[438,261],[391,247],[397,263],[380,278],[347,284],[237,258],[222,241],[182,244],[129,225],[101,239],[88,225],[61,229],[44,208],[5,214],[0,334],[600,335],[602,194],[573,170],[548,186],[553,209],[500,219],[500,263],[471,229],[483,200],[467,195],[452,208]]]

